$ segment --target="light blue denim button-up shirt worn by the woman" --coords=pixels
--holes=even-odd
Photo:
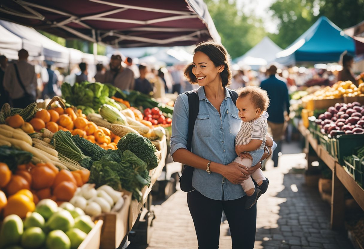
[[[227,165],[237,157],[235,137],[240,129],[241,119],[238,109],[225,89],[225,99],[220,106],[220,113],[205,97],[203,87],[198,89],[199,112],[196,118],[192,153],[213,162]],[[189,105],[186,94],[180,94],[174,104],[171,155],[180,149],[187,149]],[[195,168],[192,186],[204,196],[215,200],[233,200],[245,195],[240,184],[233,184],[221,174]]]

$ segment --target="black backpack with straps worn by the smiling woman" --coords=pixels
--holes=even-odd
[[[188,96],[189,115],[188,115],[187,150],[189,151],[191,151],[193,128],[195,126],[197,114],[200,107],[197,91],[198,89],[188,92],[183,92]],[[236,99],[238,98],[237,92],[229,89],[227,89],[227,91],[229,91],[230,97],[232,98],[235,104]],[[181,190],[184,192],[190,192],[194,190],[194,187],[192,186],[193,170],[194,167],[183,165],[183,170],[181,176],[179,177],[179,182],[181,183]]]

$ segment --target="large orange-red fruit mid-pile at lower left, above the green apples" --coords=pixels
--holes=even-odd
[[[33,189],[44,189],[46,187],[51,187],[56,173],[47,166],[37,166],[31,171],[33,182]]]

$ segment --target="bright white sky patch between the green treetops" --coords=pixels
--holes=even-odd
[[[276,33],[277,24],[274,23],[268,13],[270,5],[276,1],[277,0],[237,0],[237,6],[238,8],[244,6],[242,11],[247,15],[250,15],[250,13],[253,12],[256,16],[261,17],[264,21],[266,31]]]

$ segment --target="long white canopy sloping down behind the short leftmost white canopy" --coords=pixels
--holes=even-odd
[[[29,55],[43,55],[45,60],[68,63],[70,56],[68,49],[35,29],[3,20],[0,20],[0,25],[23,40],[23,48],[29,52]]]

